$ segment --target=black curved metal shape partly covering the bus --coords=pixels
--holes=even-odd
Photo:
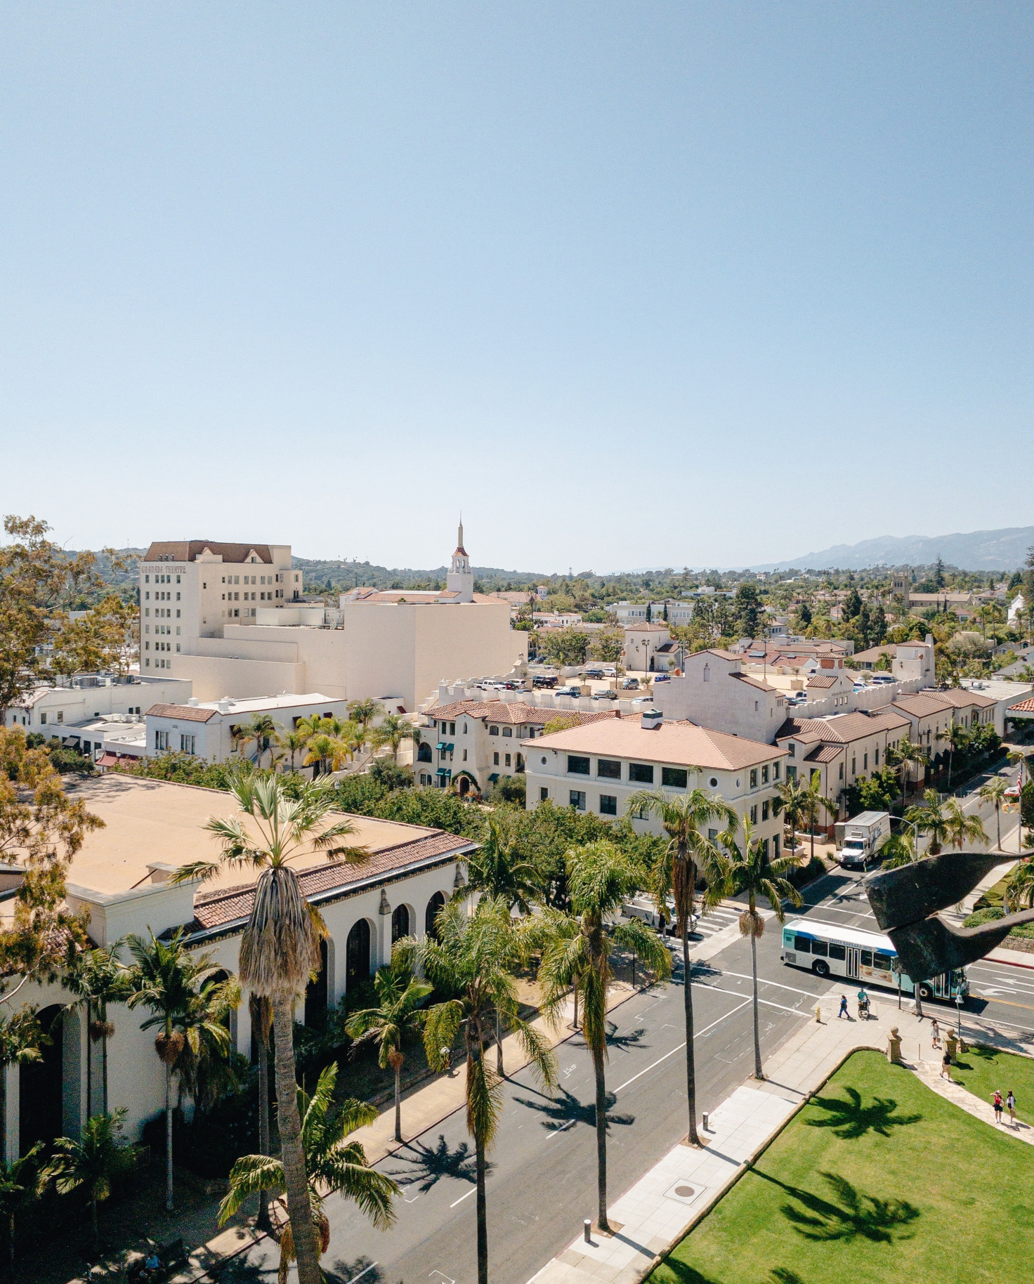
[[[902,971],[913,981],[975,963],[1019,923],[1034,922],[1034,909],[980,927],[949,927],[936,917],[938,910],[956,905],[1001,863],[1001,853],[943,851],[864,878],[876,922],[893,941]]]

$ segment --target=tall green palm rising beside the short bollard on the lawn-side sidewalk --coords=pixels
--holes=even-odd
[[[588,842],[566,854],[570,914],[547,910],[537,923],[542,942],[538,984],[542,1012],[556,1026],[572,984],[582,991],[582,1032],[596,1077],[597,1219],[606,1217],[606,1000],[614,980],[610,954],[631,950],[659,978],[670,976],[672,955],[656,932],[637,918],[608,931],[606,919],[636,889],[638,871],[613,844]]]

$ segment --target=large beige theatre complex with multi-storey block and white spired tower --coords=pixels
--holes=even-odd
[[[356,588],[337,607],[303,602],[288,546],[200,541],[152,544],[140,579],[143,672],[190,678],[202,701],[320,691],[412,711],[443,678],[505,674],[528,657],[510,603],[474,592],[462,526],[442,592]]]

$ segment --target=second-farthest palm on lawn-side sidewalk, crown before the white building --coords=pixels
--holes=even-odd
[[[654,894],[662,913],[668,912],[668,896],[674,900],[676,928],[682,940],[682,1004],[686,1019],[686,1106],[690,1115],[690,1144],[700,1145],[696,1131],[696,1058],[694,1055],[692,967],[690,964],[690,919],[696,904],[696,882],[705,881],[704,903],[721,898],[722,853],[708,828],[731,829],[740,823],[736,810],[717,794],[694,788],[688,794],[640,790],[627,805],[628,815],[656,817],[668,835],[664,856],[654,871]],[[715,896],[715,890],[718,895]]]

